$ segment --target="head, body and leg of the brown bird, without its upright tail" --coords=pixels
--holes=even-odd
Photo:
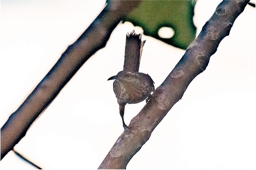
[[[108,80],[114,80],[113,89],[119,111],[123,121],[123,127],[126,130],[128,127],[124,123],[124,107],[126,103],[139,103],[150,97],[150,93],[155,91],[154,81],[148,74],[139,72],[121,71],[117,75],[110,77]],[[149,98],[146,100],[146,102]]]

